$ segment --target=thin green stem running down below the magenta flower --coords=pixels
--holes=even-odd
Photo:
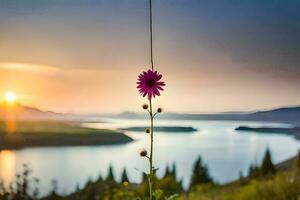
[[[153,187],[153,108],[152,108],[152,100],[151,98],[149,99],[149,106],[150,106],[150,120],[151,120],[151,124],[150,124],[150,173],[149,173],[149,193],[150,193],[150,200],[152,200],[152,187]]]

